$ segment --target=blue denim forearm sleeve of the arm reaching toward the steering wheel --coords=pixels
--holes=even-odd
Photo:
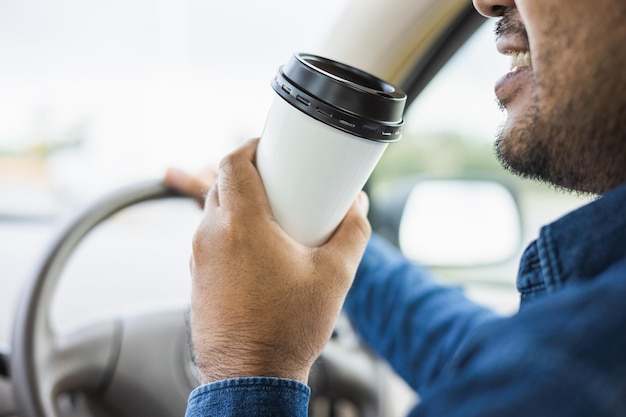
[[[438,284],[372,236],[344,305],[361,338],[416,391],[429,387],[468,334],[498,318]]]

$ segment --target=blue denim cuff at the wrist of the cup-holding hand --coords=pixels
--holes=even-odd
[[[308,386],[288,379],[249,377],[196,388],[185,417],[306,417]]]

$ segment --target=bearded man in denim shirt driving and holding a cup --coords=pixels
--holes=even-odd
[[[626,2],[474,5],[500,17],[500,52],[522,57],[496,85],[508,113],[500,159],[600,198],[542,229],[521,261],[520,312],[501,318],[368,243],[363,195],[327,244],[291,241],[248,143],[222,163],[194,237],[191,330],[206,385],[188,416],[305,416],[310,367],[349,289],[356,330],[420,393],[411,415],[626,415]]]

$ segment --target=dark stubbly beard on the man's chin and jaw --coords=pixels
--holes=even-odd
[[[601,100],[577,97],[545,114],[534,98],[519,120],[501,128],[498,160],[514,174],[568,191],[602,194],[626,182],[626,105],[594,102]]]

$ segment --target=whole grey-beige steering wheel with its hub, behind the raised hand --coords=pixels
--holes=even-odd
[[[69,334],[50,322],[61,272],[92,229],[126,207],[180,197],[159,181],[134,184],[104,196],[61,229],[16,312],[11,376],[20,417],[61,417],[68,401],[98,417],[184,415],[198,385],[186,306],[100,320]],[[338,332],[311,372],[312,404],[346,400],[360,416],[386,415],[383,365],[344,339]]]

